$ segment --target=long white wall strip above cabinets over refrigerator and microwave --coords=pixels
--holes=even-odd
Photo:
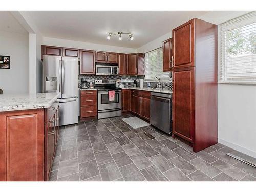
[[[133,48],[92,44],[90,42],[81,42],[81,41],[73,41],[73,40],[50,38],[50,37],[43,37],[42,42],[44,45],[58,46],[58,47],[89,49],[89,50],[109,51],[109,52],[119,52],[119,53],[137,53],[137,49],[133,49]]]

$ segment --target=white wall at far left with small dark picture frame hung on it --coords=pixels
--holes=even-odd
[[[10,56],[10,69],[0,69],[4,94],[29,92],[29,34],[0,31],[0,55]]]

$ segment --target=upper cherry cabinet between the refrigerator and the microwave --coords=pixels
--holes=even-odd
[[[80,74],[95,74],[95,51],[80,50]]]

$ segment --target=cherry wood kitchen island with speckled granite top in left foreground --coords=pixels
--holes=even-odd
[[[0,95],[0,181],[48,180],[60,93]]]

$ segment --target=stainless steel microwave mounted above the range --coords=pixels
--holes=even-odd
[[[96,75],[118,75],[118,65],[96,63]]]

